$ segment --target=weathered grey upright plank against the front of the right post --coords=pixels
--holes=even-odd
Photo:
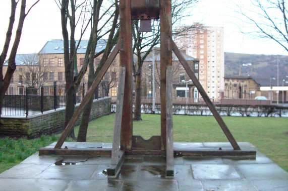
[[[173,147],[173,66],[166,73],[166,176],[174,176]]]

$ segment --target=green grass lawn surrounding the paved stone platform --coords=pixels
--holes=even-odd
[[[142,114],[142,122],[133,122],[133,134],[145,139],[160,135],[160,115]],[[212,116],[177,116],[174,118],[175,142],[228,142]],[[223,117],[238,142],[250,142],[288,171],[288,118]],[[89,123],[88,142],[112,142],[114,115]],[[78,127],[75,128],[77,136]],[[60,135],[38,139],[0,139],[0,173],[20,163],[40,147],[56,141]],[[69,140],[71,141],[71,140]]]

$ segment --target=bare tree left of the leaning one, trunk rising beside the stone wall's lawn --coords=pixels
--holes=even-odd
[[[60,0],[56,4],[61,11],[61,26],[64,44],[64,65],[65,65],[65,81],[66,81],[66,108],[65,108],[65,127],[72,118],[75,110],[76,91],[87,70],[87,60],[90,51],[90,44],[88,42],[84,64],[78,72],[77,69],[77,49],[81,42],[82,36],[86,31],[91,17],[89,16],[88,1],[76,0]],[[69,4],[70,2],[70,4]],[[78,17],[77,17],[78,16]],[[68,32],[68,22],[70,27],[70,35]],[[80,22],[80,23],[79,23]],[[75,31],[76,27],[80,25],[80,39],[76,45]],[[69,137],[75,138],[74,129],[70,132]]]

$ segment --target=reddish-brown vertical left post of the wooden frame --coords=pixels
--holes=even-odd
[[[124,105],[121,123],[121,149],[132,147],[132,20],[131,0],[120,0],[120,66],[125,66]]]

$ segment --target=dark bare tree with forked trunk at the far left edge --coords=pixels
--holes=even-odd
[[[26,11],[26,0],[21,1],[21,9],[20,9],[20,17],[18,21],[18,27],[16,31],[16,36],[14,39],[14,43],[11,49],[10,56],[8,58],[8,68],[5,73],[5,76],[3,76],[3,64],[6,60],[9,45],[11,42],[11,36],[12,36],[12,31],[13,31],[13,26],[14,26],[14,21],[15,21],[15,13],[16,13],[16,7],[19,1],[11,0],[11,15],[10,15],[10,20],[9,20],[9,25],[8,25],[8,30],[6,33],[6,39],[5,39],[5,44],[2,50],[2,53],[0,55],[0,115],[2,111],[2,106],[3,106],[3,100],[5,97],[5,93],[8,89],[8,86],[10,84],[12,75],[14,71],[16,70],[16,63],[15,63],[15,57],[18,49],[18,45],[20,43],[20,38],[22,34],[22,28],[24,25],[24,20],[26,16],[29,14],[30,10],[39,2],[40,0],[36,1],[25,13]]]

